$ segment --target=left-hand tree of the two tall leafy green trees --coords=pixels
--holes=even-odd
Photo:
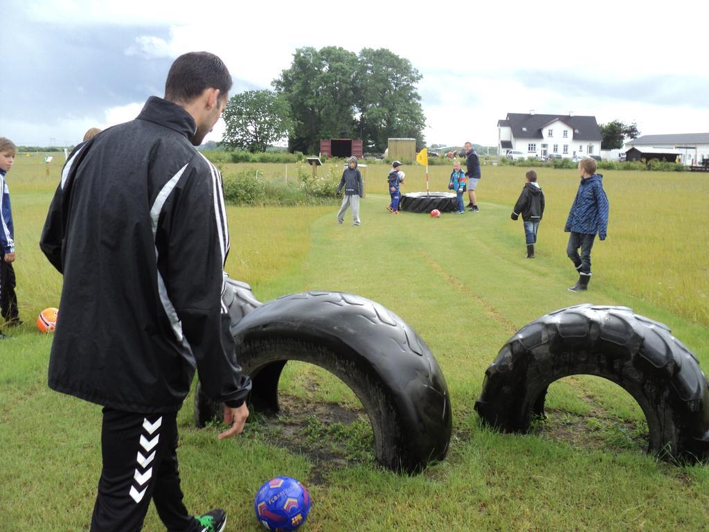
[[[291,67],[273,82],[289,103],[293,117],[289,150],[317,153],[320,139],[354,136],[356,69],[357,55],[344,48],[296,50]]]

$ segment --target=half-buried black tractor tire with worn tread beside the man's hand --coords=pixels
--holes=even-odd
[[[423,340],[384,306],[340,292],[291,294],[250,310],[231,331],[238,362],[252,379],[253,410],[278,411],[284,365],[309,362],[362,402],[381,465],[415,473],[445,458],[452,425],[445,379]],[[197,425],[217,414],[198,386]]]

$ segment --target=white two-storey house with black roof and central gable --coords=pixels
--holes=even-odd
[[[601,130],[595,116],[574,113],[537,114],[508,113],[497,123],[498,153],[506,155],[518,150],[527,157],[562,157],[598,155],[601,153]]]

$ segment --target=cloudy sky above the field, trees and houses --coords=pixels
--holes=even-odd
[[[708,2],[4,0],[0,136],[69,145],[162,96],[175,57],[225,60],[232,93],[270,88],[296,48],[389,48],[423,74],[428,143],[497,144],[507,113],[709,131]],[[218,123],[206,140],[220,140]]]

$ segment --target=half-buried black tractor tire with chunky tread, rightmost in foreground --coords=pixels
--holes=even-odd
[[[649,428],[648,452],[709,455],[709,385],[696,356],[667,326],[624,306],[571,306],[515,333],[485,372],[475,409],[489,425],[527,432],[544,416],[549,384],[596,375],[623,387]]]

